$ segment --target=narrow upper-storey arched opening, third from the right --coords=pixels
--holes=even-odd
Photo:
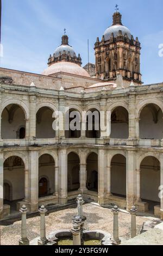
[[[90,109],[86,117],[86,137],[100,138],[100,113],[97,109]]]

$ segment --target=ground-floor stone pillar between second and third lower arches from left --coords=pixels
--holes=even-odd
[[[59,204],[67,203],[67,150],[59,149]]]

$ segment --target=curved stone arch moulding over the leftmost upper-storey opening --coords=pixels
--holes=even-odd
[[[27,104],[25,102],[20,101],[20,100],[16,100],[16,99],[10,99],[10,100],[8,99],[8,100],[6,100],[2,103],[1,115],[2,115],[2,112],[3,112],[4,108],[9,106],[9,105],[12,105],[12,104],[15,104],[15,105],[18,105],[19,107],[21,107],[23,112],[24,112],[24,115],[25,115],[26,119],[27,120],[29,119],[29,107],[27,106]]]

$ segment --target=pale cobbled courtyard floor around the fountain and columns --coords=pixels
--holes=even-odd
[[[76,204],[64,210],[53,210],[46,216],[46,234],[58,229],[71,229],[72,217],[77,215]],[[83,205],[84,215],[87,217],[85,227],[88,230],[105,230],[112,235],[113,214],[110,209],[102,208],[95,204]],[[137,216],[137,234],[140,234],[143,222],[148,219]],[[119,230],[122,241],[130,239],[130,215],[126,212],[119,214]],[[1,225],[1,245],[18,245],[21,234],[21,221],[3,221]],[[31,241],[40,235],[40,217],[30,216],[27,219],[27,234]]]

